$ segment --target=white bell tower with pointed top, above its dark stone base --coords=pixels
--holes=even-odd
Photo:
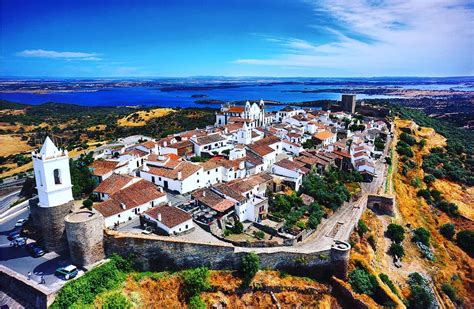
[[[39,206],[54,207],[73,200],[69,157],[46,137],[39,152],[33,152],[33,168]]]

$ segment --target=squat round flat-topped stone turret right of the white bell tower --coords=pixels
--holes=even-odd
[[[87,267],[104,255],[104,218],[92,211],[79,211],[66,216],[69,254],[74,265]]]

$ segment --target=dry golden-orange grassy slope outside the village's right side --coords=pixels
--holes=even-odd
[[[408,125],[408,121],[396,121],[396,136],[400,134],[400,127]],[[474,288],[474,262],[464,251],[462,251],[454,242],[445,239],[440,235],[439,226],[453,222],[457,230],[470,228],[473,229],[473,222],[468,218],[459,217],[456,219],[448,217],[446,214],[435,210],[432,206],[427,205],[424,199],[417,197],[418,188],[411,185],[414,177],[423,179],[423,170],[421,169],[422,155],[426,154],[430,148],[444,146],[445,138],[430,128],[422,128],[416,133],[417,139],[426,138],[427,145],[423,149],[414,146],[414,161],[417,166],[410,170],[407,176],[403,176],[401,171],[402,163],[398,160],[395,152],[394,156],[394,173],[393,184],[397,200],[397,211],[394,218],[388,216],[377,216],[372,211],[367,210],[362,219],[368,225],[370,232],[362,239],[356,233],[352,235],[352,239],[356,242],[354,251],[351,255],[351,264],[356,261],[365,261],[369,263],[370,269],[374,274],[386,273],[392,281],[398,286],[400,294],[407,297],[409,294],[407,285],[405,284],[408,274],[411,272],[420,272],[429,275],[436,287],[436,294],[439,301],[447,306],[453,306],[451,301],[441,291],[441,285],[445,282],[451,283],[457,290],[464,301],[466,307],[470,307],[474,303],[474,296],[470,291]],[[466,191],[460,189],[457,184],[447,180],[437,180],[438,187],[442,186],[446,189],[444,197],[448,201],[456,201],[460,198],[464,199],[467,192],[472,192],[472,188]],[[437,185],[435,184],[435,187]],[[461,196],[461,197],[460,197]],[[472,198],[472,196],[471,196]],[[472,204],[470,206],[472,208]],[[461,208],[462,209],[462,208]],[[468,217],[468,216],[466,216]],[[416,246],[410,241],[410,233],[406,233],[406,239],[403,241],[405,248],[405,257],[402,259],[403,267],[396,268],[393,265],[392,258],[387,254],[391,241],[384,236],[386,228],[390,223],[398,223],[401,225],[410,224],[414,228],[425,227],[432,235],[432,247],[435,252],[436,260],[430,262],[423,259]],[[372,234],[376,239],[376,250],[367,242],[368,235]],[[459,280],[451,280],[453,275],[457,274]]]

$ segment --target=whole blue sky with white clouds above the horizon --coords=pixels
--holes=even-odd
[[[0,1],[0,75],[474,74],[471,0]]]

